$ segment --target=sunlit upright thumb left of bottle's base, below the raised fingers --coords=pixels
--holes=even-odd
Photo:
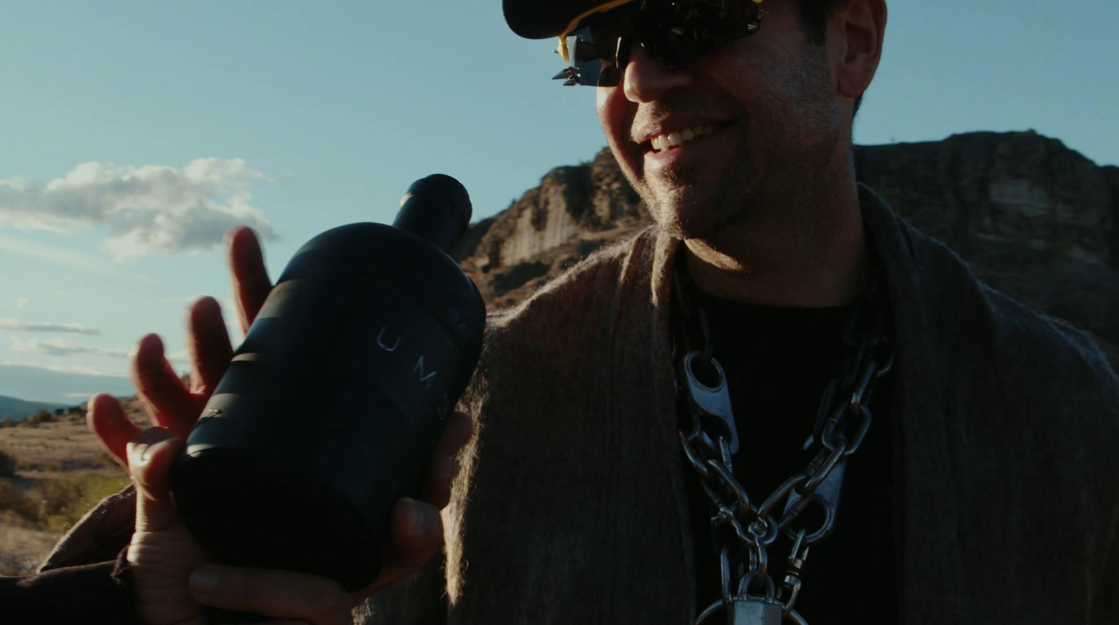
[[[178,524],[167,481],[182,446],[184,440],[166,428],[148,428],[129,441],[129,473],[138,495],[138,532],[160,532]]]

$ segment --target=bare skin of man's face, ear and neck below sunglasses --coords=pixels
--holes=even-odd
[[[771,306],[837,306],[865,281],[867,251],[853,155],[855,97],[877,68],[886,7],[848,0],[825,45],[798,8],[767,0],[758,34],[686,67],[640,46],[622,83],[599,87],[610,148],[653,218],[685,240],[709,293]],[[650,134],[715,125],[653,152]]]

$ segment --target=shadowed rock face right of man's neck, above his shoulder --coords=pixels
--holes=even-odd
[[[856,149],[858,178],[988,284],[1119,363],[1119,168],[1032,132]]]

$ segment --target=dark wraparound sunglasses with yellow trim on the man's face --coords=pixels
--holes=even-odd
[[[572,20],[557,53],[564,85],[618,86],[639,44],[669,67],[683,67],[758,32],[762,0],[614,0]]]

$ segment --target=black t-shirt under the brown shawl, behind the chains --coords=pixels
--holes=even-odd
[[[726,372],[740,439],[734,474],[751,501],[761,502],[812,459],[814,450],[803,450],[803,444],[812,433],[824,388],[843,367],[840,334],[847,308],[775,308],[706,293],[694,297],[706,310],[714,355]],[[867,438],[848,459],[835,530],[809,550],[796,609],[810,624],[855,617],[859,623],[897,621],[892,380],[887,375],[878,384]],[[709,500],[695,474],[687,473],[702,610],[722,594],[720,566],[712,545]],[[768,550],[777,584],[784,578],[791,547],[781,535]]]

